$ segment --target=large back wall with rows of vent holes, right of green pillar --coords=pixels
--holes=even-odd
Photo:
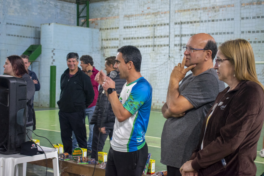
[[[105,57],[124,45],[139,48],[142,75],[152,84],[152,108],[166,102],[171,71],[182,61],[182,46],[197,33],[212,35],[218,45],[243,38],[264,63],[263,1],[105,1],[89,5],[89,27],[102,31]],[[100,13],[98,13],[100,12]],[[264,83],[264,64],[256,64]]]

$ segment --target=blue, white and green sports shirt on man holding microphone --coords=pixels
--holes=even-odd
[[[141,77],[134,82],[124,84],[119,101],[132,116],[123,122],[115,119],[111,147],[116,151],[130,152],[145,145],[145,133],[148,127],[152,101],[152,87]]]

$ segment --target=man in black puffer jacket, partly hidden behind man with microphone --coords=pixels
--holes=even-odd
[[[110,72],[116,70],[114,68],[115,65],[115,56],[111,56],[105,59],[105,70],[107,73],[107,76],[109,77]],[[125,79],[120,79],[120,76],[117,72],[116,77],[113,79],[115,82],[115,89],[117,94],[119,95],[120,92],[122,91],[123,85],[126,83]],[[99,95],[101,95],[103,91],[103,87],[100,87]],[[105,110],[103,113],[102,117],[102,111]],[[115,114],[112,110],[111,104],[108,101],[107,102],[107,97],[103,96],[100,99],[100,96],[97,98],[96,106],[95,106],[95,111],[93,113],[91,122],[89,125],[94,125],[93,127],[93,142],[92,142],[92,155],[91,158],[96,158],[97,160],[97,152],[98,151],[103,151],[103,146],[105,145],[105,141],[107,139],[107,136],[111,139],[113,135],[113,130],[114,130],[114,125],[115,125]],[[100,127],[101,127],[101,134],[100,138],[98,141],[99,137],[99,132],[100,132]],[[97,150],[97,144],[98,145],[98,150]]]

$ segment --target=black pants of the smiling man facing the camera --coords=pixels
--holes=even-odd
[[[85,127],[85,110],[67,113],[59,111],[60,136],[64,152],[72,154],[72,131],[74,132],[80,148],[87,149],[87,136]]]

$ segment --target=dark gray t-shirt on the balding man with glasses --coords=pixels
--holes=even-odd
[[[198,144],[203,120],[219,92],[225,89],[213,68],[186,76],[179,86],[180,94],[195,108],[185,116],[170,117],[164,123],[161,136],[161,163],[180,168]]]

